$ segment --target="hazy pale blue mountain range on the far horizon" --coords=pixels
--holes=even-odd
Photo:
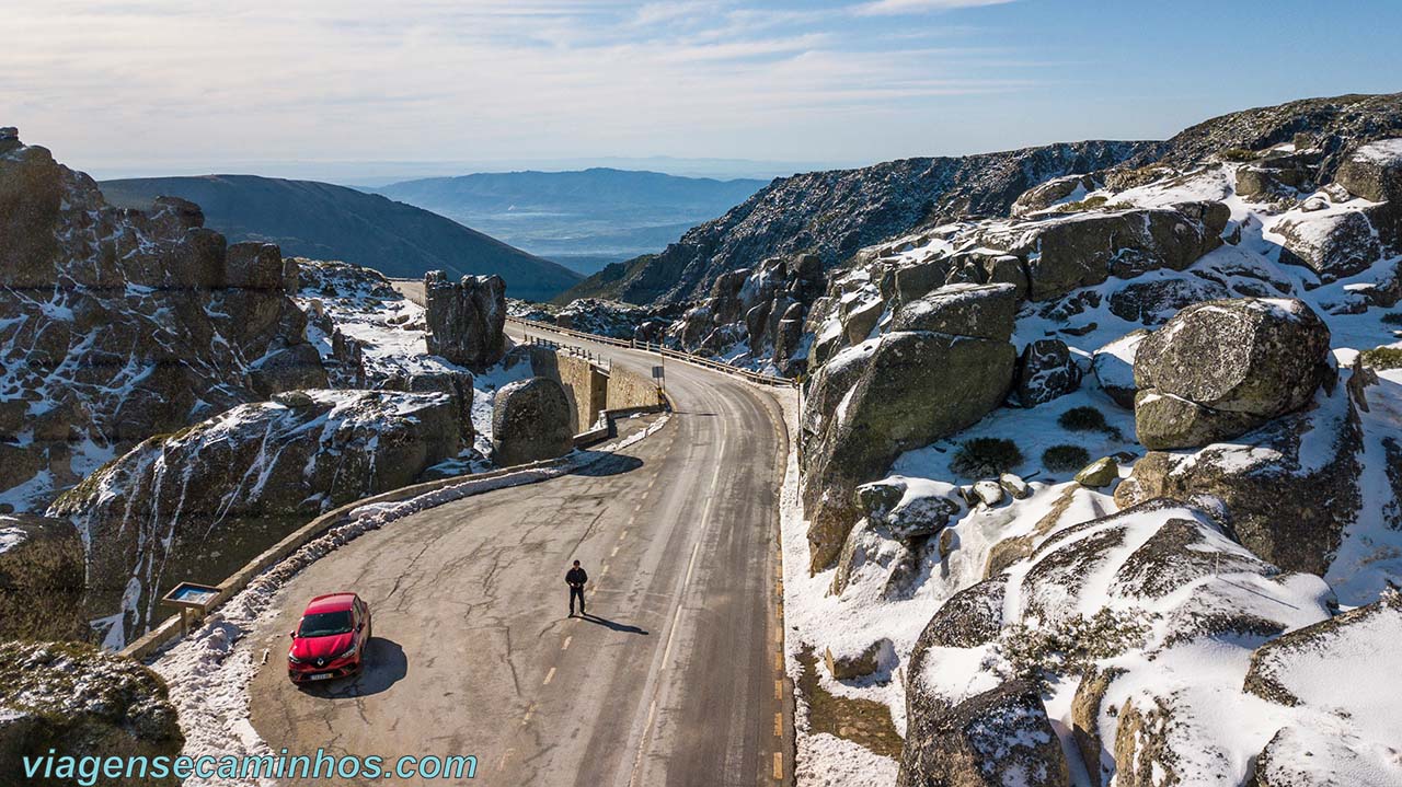
[[[765,181],[593,168],[485,172],[366,189],[447,216],[582,273],[660,251]]]

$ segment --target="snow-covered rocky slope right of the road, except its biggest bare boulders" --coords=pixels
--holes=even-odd
[[[980,744],[960,738],[962,713],[1032,713],[1007,695],[1018,681],[1037,686],[1033,710],[1061,744],[1060,755],[1026,749],[1035,752],[1019,772],[1028,784],[1064,783],[1064,770],[1074,784],[1238,786],[1255,777],[1258,760],[1262,784],[1273,787],[1402,784],[1402,746],[1384,731],[1402,713],[1402,693],[1384,700],[1332,688],[1332,676],[1357,671],[1387,690],[1394,678],[1377,664],[1354,668],[1309,651],[1297,672],[1309,699],[1298,703],[1248,685],[1269,650],[1262,646],[1347,620],[1340,609],[1380,598],[1394,609],[1387,587],[1402,583],[1402,372],[1373,350],[1402,347],[1402,312],[1391,311],[1402,297],[1402,203],[1387,190],[1402,157],[1392,144],[1335,155],[1335,165],[1345,161],[1338,176],[1304,137],[1298,147],[1182,169],[1088,175],[1052,189],[1054,199],[1026,200],[1016,218],[893,238],[833,277],[808,326],[817,372],[808,406],[826,415],[803,417],[820,431],[859,417],[848,412],[859,399],[841,392],[855,381],[871,399],[876,382],[852,364],[879,353],[903,319],[917,319],[910,309],[928,311],[927,295],[948,283],[1011,284],[1019,295],[1012,344],[1042,351],[1054,340],[1070,358],[1036,406],[1015,406],[1014,396],[974,426],[871,468],[873,483],[857,496],[861,520],[845,531],[837,563],[788,574],[791,653],[813,648],[830,664],[861,665],[843,678],[819,668],[819,685],[887,704],[906,737],[900,784],[925,784],[930,769],[967,762],[958,745]],[[1353,158],[1371,169],[1349,172]],[[1301,412],[1241,437],[1150,452],[1137,438],[1136,351],[1145,330],[1221,298],[1319,315],[1326,382]],[[1360,353],[1367,363],[1354,363]],[[1029,357],[1008,384],[1015,394],[1029,377],[1046,388],[1047,370],[1060,368]],[[1025,374],[1029,363],[1040,365]],[[805,440],[812,462],[819,433]],[[1015,448],[987,454],[997,471],[970,464],[970,444],[994,441]],[[1073,480],[1099,457],[1112,459],[1108,475]],[[998,472],[1011,475],[1000,483]],[[897,490],[889,503],[883,489]],[[1158,494],[1179,500],[1148,500]],[[900,511],[939,500],[951,501],[946,524],[899,521]],[[1263,518],[1314,522],[1319,511],[1323,536],[1260,541]],[[808,562],[810,524],[798,511],[785,517],[791,563]],[[1286,532],[1272,528],[1265,532]],[[1319,569],[1290,573],[1258,552]],[[1388,615],[1396,613],[1345,626],[1345,641],[1382,636],[1394,625]],[[796,660],[791,667],[801,669]],[[997,727],[994,716],[986,721]],[[829,756],[834,769],[875,758],[844,784],[892,781],[893,762],[852,746],[805,738],[801,751],[820,762],[803,770],[823,773]],[[1321,758],[1301,760],[1301,746],[1318,746]]]

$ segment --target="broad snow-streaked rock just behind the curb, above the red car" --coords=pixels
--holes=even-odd
[[[172,581],[215,583],[311,517],[457,455],[440,394],[297,391],[153,437],[64,493],[88,543],[87,616],[107,644],[158,619]]]

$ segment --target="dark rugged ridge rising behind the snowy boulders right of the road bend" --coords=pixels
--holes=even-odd
[[[662,253],[610,265],[561,300],[666,304],[704,295],[723,273],[770,256],[815,253],[826,267],[928,221],[1004,214],[1022,192],[1113,167],[1158,143],[1082,141],[966,157],[906,158],[777,179]]]

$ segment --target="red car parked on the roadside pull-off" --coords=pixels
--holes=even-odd
[[[292,632],[287,676],[293,683],[356,675],[370,641],[370,605],[353,592],[318,595]]]

